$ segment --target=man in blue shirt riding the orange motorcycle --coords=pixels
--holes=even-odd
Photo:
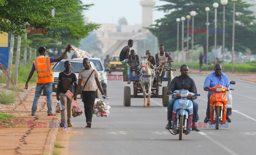
[[[204,90],[209,90],[209,87],[214,87],[216,85],[222,85],[223,87],[231,88],[229,84],[229,78],[226,74],[221,72],[221,64],[217,63],[215,64],[214,71],[210,75],[208,75],[204,81]],[[207,102],[207,109],[206,109],[206,117],[204,119],[204,123],[207,123],[210,119],[210,96],[214,93],[213,91],[208,91],[208,102]],[[228,123],[231,123],[231,119],[229,116],[231,116],[231,108],[227,108],[227,116],[226,120]]]

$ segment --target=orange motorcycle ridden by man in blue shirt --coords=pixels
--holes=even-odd
[[[230,81],[231,85],[235,85],[235,81]],[[220,124],[226,123],[227,116],[227,105],[228,99],[226,91],[231,91],[234,89],[229,89],[228,87],[223,87],[222,85],[216,85],[215,87],[209,87],[205,91],[213,91],[214,93],[210,96],[210,121],[209,124],[215,124],[215,128],[219,129]]]

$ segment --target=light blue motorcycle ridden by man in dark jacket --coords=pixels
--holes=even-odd
[[[172,112],[172,131],[169,132],[173,135],[179,134],[179,140],[182,140],[182,134],[186,135],[190,133],[193,120],[193,103],[190,97],[200,96],[200,94],[194,94],[188,90],[181,89],[180,91],[174,91],[172,94],[175,97]]]

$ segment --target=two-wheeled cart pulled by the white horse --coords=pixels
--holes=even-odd
[[[163,81],[170,81],[172,80],[172,76],[171,76],[171,71],[175,70],[175,69],[171,69],[171,63],[169,63],[168,67],[170,68],[169,71],[165,72],[165,77],[163,79]],[[125,68],[123,70],[123,81],[128,81],[127,79],[127,66],[124,63],[123,64],[123,68]],[[131,71],[132,72],[132,71]],[[138,79],[140,75],[138,75],[137,77],[134,78],[134,73],[132,74],[131,79],[133,78],[134,80],[132,80],[133,83],[133,94],[131,94],[131,87],[130,86],[125,86],[124,87],[124,106],[125,107],[130,107],[131,105],[131,98],[144,98],[143,96],[143,89],[142,86],[140,84],[140,81]],[[153,85],[151,86],[151,96],[149,98],[162,98],[162,103],[164,107],[167,107],[167,104],[169,102],[169,96],[167,96],[167,86],[163,86],[162,87],[162,95],[159,93],[159,89],[161,88],[161,86],[159,86],[158,84],[158,78],[156,78],[156,82],[153,83]],[[148,86],[146,85],[146,93],[148,93]],[[146,97],[148,97],[148,95],[146,95]],[[150,103],[149,103],[150,104]],[[145,106],[144,106],[145,107]]]

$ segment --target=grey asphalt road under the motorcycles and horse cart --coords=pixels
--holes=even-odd
[[[203,91],[206,76],[190,76],[201,94],[197,99],[198,122],[203,123],[207,103],[207,92]],[[127,84],[121,80],[108,81],[109,117],[94,116],[92,128],[85,128],[84,115],[74,118],[68,154],[254,154],[256,84],[239,80],[241,77],[229,78],[236,81],[232,92],[232,123],[219,130],[207,125],[200,128],[201,132],[183,135],[182,141],[165,129],[167,110],[162,106],[162,99],[151,99],[149,108],[142,107],[143,99],[131,99],[131,107],[124,107],[123,89]]]

